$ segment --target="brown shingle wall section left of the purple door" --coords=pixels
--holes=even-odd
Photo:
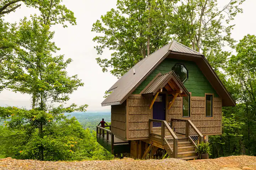
[[[152,97],[129,96],[129,138],[148,137],[148,121],[151,118],[149,105],[151,101]]]

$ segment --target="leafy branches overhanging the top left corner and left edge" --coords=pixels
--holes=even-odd
[[[38,8],[40,11],[38,19],[45,25],[62,24],[63,27],[67,27],[66,22],[76,24],[74,13],[65,5],[61,5],[61,2],[62,0],[3,0],[0,2],[0,91],[14,83],[13,77],[21,74],[20,63],[15,60],[15,56],[22,51],[16,24],[5,22],[3,17],[23,4]]]

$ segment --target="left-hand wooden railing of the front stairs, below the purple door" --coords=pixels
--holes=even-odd
[[[161,128],[154,127],[153,125],[156,123],[160,125]],[[178,137],[165,120],[149,119],[149,137],[164,146],[166,145],[167,148],[169,148],[169,156],[171,157],[172,155],[172,157],[177,158]]]

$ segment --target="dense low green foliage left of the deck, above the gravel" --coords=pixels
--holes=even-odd
[[[1,157],[15,159],[112,159],[96,141],[96,132],[83,129],[75,117],[54,112],[1,107],[5,126],[0,127]],[[71,111],[71,110],[70,110]],[[43,128],[41,129],[42,120]]]

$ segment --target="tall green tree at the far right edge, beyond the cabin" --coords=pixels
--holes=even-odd
[[[230,57],[227,71],[239,85],[238,102],[243,103],[243,112],[239,114],[240,121],[246,123],[243,128],[244,154],[256,154],[253,145],[256,131],[256,36],[246,35],[236,45],[237,55]]]

